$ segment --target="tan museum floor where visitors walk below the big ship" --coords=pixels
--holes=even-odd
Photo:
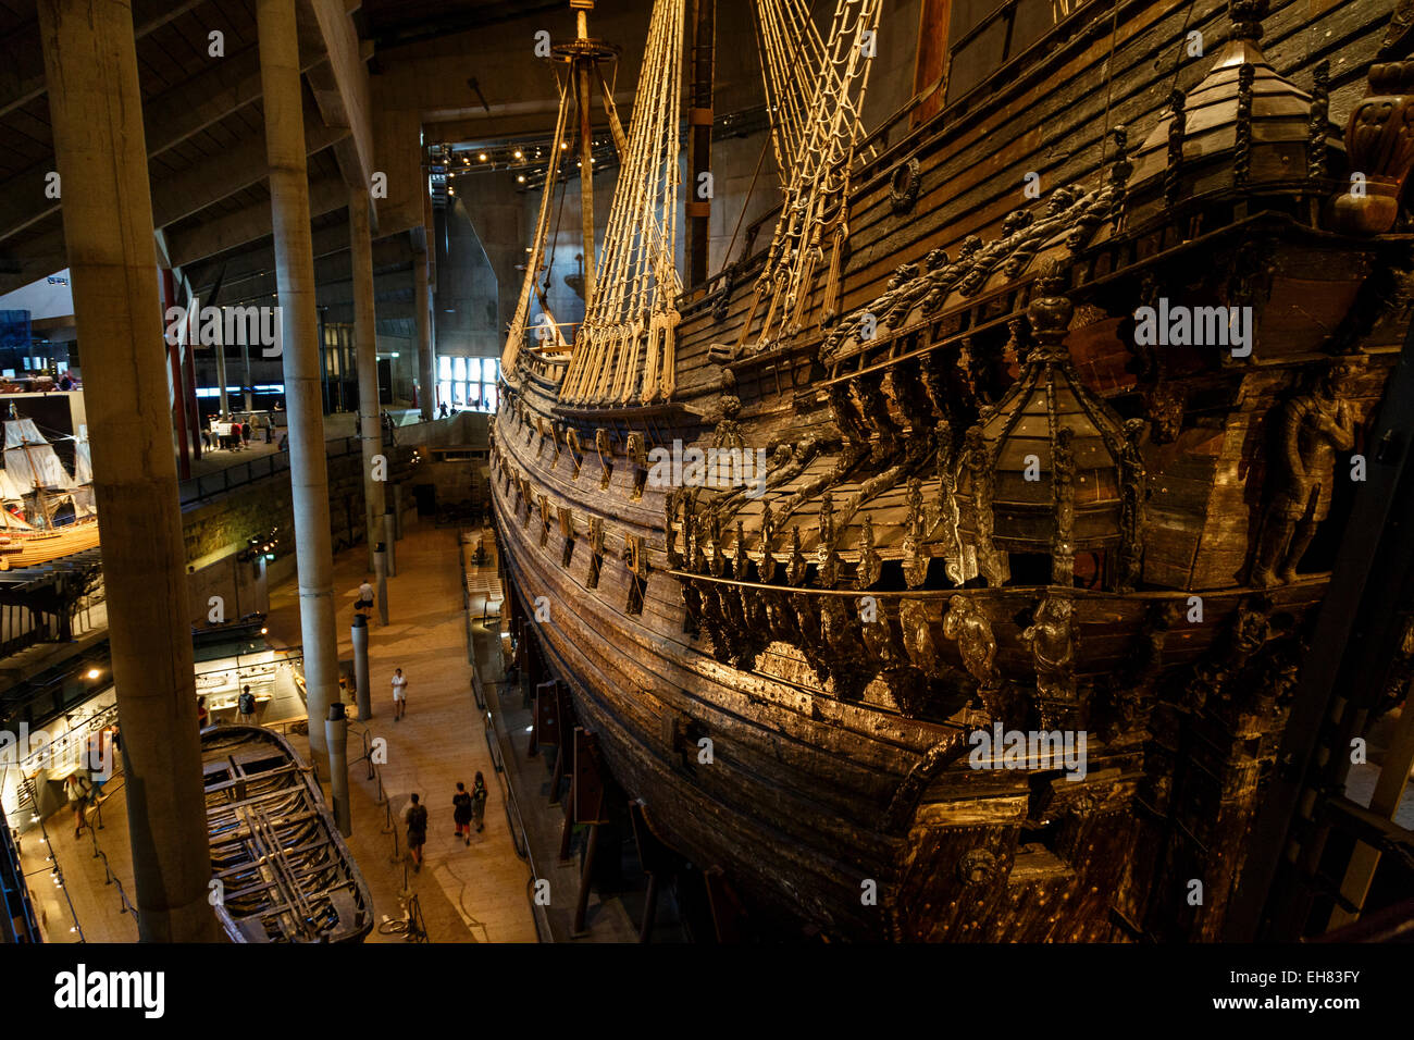
[[[373,719],[369,732],[387,740],[387,764],[382,780],[387,807],[378,804],[376,781],[368,780],[363,763],[351,764],[349,787],[354,835],[349,846],[373,893],[379,921],[403,914],[400,894],[406,884],[417,894],[427,934],[433,942],[534,942],[530,914],[530,869],[515,850],[508,815],[496,782],[484,724],[471,689],[467,661],[467,621],[462,613],[458,538],[454,529],[436,529],[410,522],[397,543],[397,577],[389,582],[390,624],[376,618],[369,638],[369,668],[373,685]],[[339,657],[351,659],[349,621],[355,590],[363,577],[362,546],[335,559],[335,596],[339,606]],[[489,570],[493,579],[495,572]],[[271,590],[270,640],[273,645],[298,642],[298,606],[294,580]],[[479,607],[475,613],[479,616]],[[389,679],[395,668],[409,678],[407,716],[395,723]],[[499,676],[496,676],[499,678]],[[307,751],[303,737],[296,747]],[[349,758],[362,754],[358,726],[349,727]],[[457,781],[471,785],[481,770],[491,790],[485,831],[468,848],[452,835],[451,797]],[[117,886],[106,883],[105,859],[95,856],[95,842],[106,855],[112,873],[133,891],[127,852],[127,818],[119,773],[106,785],[102,801],[103,828],[74,838],[72,818],[61,811],[47,821],[47,832],[74,903],[74,915],[89,942],[130,942],[137,938],[133,918],[123,913]],[[416,791],[427,802],[431,818],[426,863],[420,873],[403,860],[393,862],[393,836],[385,832],[387,809],[395,821]],[[397,825],[399,852],[403,828]],[[65,889],[48,880],[44,838],[40,831],[25,835],[21,855],[31,891],[44,918],[47,940],[79,940]],[[370,942],[402,942],[399,935],[382,935]]]

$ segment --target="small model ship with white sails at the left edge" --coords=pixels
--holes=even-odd
[[[0,570],[31,567],[99,543],[93,505],[93,466],[88,427],[75,443],[75,475],[69,475],[33,419],[4,424],[4,470],[0,470]],[[23,508],[30,519],[11,512]],[[65,509],[65,522],[55,522]]]

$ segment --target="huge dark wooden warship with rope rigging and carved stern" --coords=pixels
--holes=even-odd
[[[676,117],[639,116],[677,110],[660,0],[573,342],[526,341],[532,243],[495,420],[508,613],[653,833],[764,918],[1222,932],[1414,303],[1407,6],[1383,45],[1387,7],[1340,8],[1346,54],[1383,47],[1343,136],[1328,65],[1264,55],[1266,0],[1229,4],[1186,93],[1186,6],[1118,42],[1085,7],[1055,74],[870,158],[878,4],[840,0],[768,96],[797,113],[769,248],[689,301]],[[1126,127],[1110,96],[1151,100]],[[1032,201],[1066,136],[1087,158]],[[1083,763],[1028,757],[1038,733]]]

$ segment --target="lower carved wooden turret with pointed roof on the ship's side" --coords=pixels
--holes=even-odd
[[[1038,279],[1021,378],[969,432],[957,461],[959,529],[991,584],[1117,580],[1124,433],[1070,364],[1075,306],[1060,272],[1052,263]]]

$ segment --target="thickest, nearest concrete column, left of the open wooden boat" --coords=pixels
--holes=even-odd
[[[158,313],[133,11],[41,0],[64,235],[82,341],[139,935],[218,937],[197,737],[187,553]]]

